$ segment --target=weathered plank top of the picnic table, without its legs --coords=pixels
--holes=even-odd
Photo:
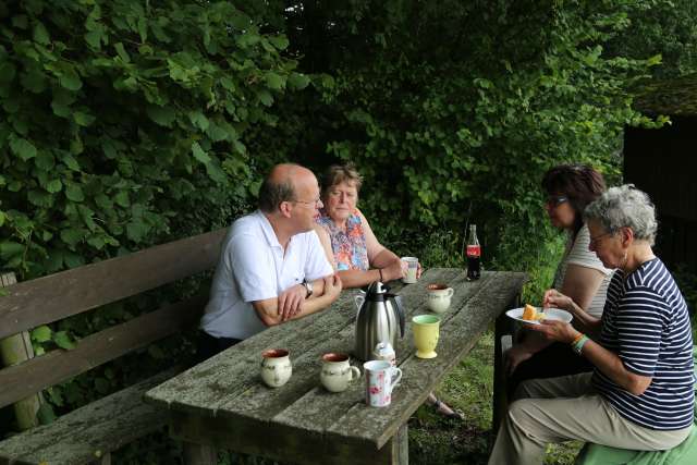
[[[447,283],[454,289],[451,307],[441,315],[438,357],[417,358],[411,330],[414,315],[427,314],[426,285]],[[352,353],[354,295],[344,291],[325,311],[271,327],[148,391],[146,401],[182,417],[216,417],[236,428],[273,428],[325,440],[382,448],[425,401],[441,378],[474,346],[488,325],[521,292],[525,274],[484,272],[467,282],[461,269],[429,269],[416,284],[398,291],[406,311],[406,330],[398,346],[403,370],[392,404],[376,408],[365,404],[365,376],[342,393],[330,393],[319,382],[321,356],[327,352]],[[396,287],[396,286],[395,286]],[[260,379],[261,352],[288,348],[293,376],[278,389]],[[353,362],[360,368],[359,362]],[[200,421],[201,425],[208,421]],[[259,431],[261,433],[261,431]]]

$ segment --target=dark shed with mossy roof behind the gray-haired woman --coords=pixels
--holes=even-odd
[[[671,124],[626,129],[624,180],[656,204],[657,254],[670,268],[683,264],[697,273],[697,75],[645,87],[636,108]]]

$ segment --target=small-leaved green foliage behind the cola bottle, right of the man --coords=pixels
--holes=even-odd
[[[627,91],[657,61],[604,50],[652,4],[308,2],[288,34],[291,48],[317,45],[301,69],[319,96],[281,101],[279,131],[288,152],[326,152],[308,157],[318,168],[357,164],[360,207],[388,243],[418,249],[424,231],[462,235],[474,222],[490,265],[550,266],[542,173],[587,162],[616,182],[623,127],[661,124]],[[256,140],[276,149],[271,137]]]

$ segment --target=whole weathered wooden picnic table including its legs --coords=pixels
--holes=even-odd
[[[475,345],[489,323],[517,304],[526,277],[484,272],[468,282],[462,269],[427,270],[416,284],[396,285],[407,325],[398,344],[400,386],[388,407],[365,404],[365,376],[341,393],[319,382],[321,356],[352,353],[354,296],[344,291],[328,309],[276,326],[205,360],[146,393],[170,413],[170,435],[185,442],[188,463],[216,463],[216,449],[305,464],[406,464],[406,424],[443,376]],[[417,358],[411,317],[427,314],[426,285],[454,289],[441,315],[438,357]],[[260,380],[261,352],[288,348],[293,376],[278,389]],[[352,359],[363,371],[362,363]]]

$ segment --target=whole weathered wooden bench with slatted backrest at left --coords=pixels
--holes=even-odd
[[[27,333],[209,270],[218,261],[224,234],[221,229],[22,283],[3,277],[7,295],[0,296],[0,346],[11,365],[0,370],[0,407],[14,404],[19,423],[36,424],[36,394],[41,390],[195,328],[207,292],[90,334],[70,351],[59,348],[34,357]],[[166,424],[164,412],[144,404],[142,397],[176,372],[172,368],[157,374],[50,425],[5,439],[0,442],[0,465],[110,463],[110,452]]]

